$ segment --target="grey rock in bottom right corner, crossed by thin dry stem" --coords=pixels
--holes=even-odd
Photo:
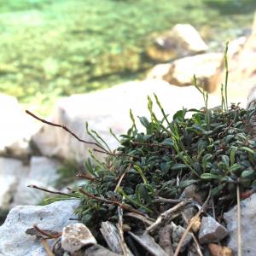
[[[256,194],[241,201],[241,253],[243,256],[256,255],[255,229],[256,229]],[[229,212],[224,213],[224,221],[230,232],[227,246],[237,255],[237,207],[233,207]]]

